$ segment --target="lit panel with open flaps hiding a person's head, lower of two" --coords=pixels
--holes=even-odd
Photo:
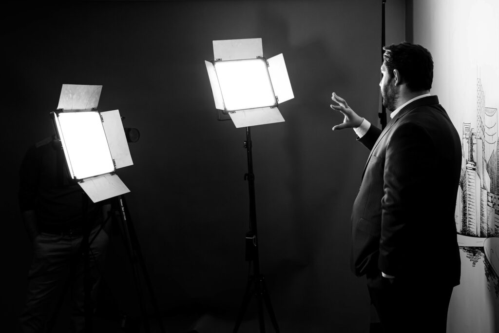
[[[69,174],[93,202],[130,192],[114,171],[133,164],[119,110],[96,110],[101,90],[63,84],[52,112]]]

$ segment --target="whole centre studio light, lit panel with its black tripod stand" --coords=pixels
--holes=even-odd
[[[248,154],[248,173],[245,174],[245,180],[248,180],[250,192],[250,231],[246,234],[246,261],[250,263],[250,272],[251,263],[253,264],[253,274],[250,275],[249,272],[234,333],[238,332],[252,295],[257,301],[260,333],[265,332],[264,305],[274,330],[278,333],[279,327],[265,279],[260,274],[250,127],[283,122],[284,118],[277,106],[294,98],[294,94],[282,53],[271,58],[263,57],[261,38],[214,40],[213,58],[213,61],[205,61],[205,65],[215,107],[219,110],[218,120],[227,119],[221,117],[222,112],[229,115],[236,128],[246,127],[244,147]]]

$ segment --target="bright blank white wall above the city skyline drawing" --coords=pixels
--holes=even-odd
[[[474,127],[478,76],[487,106],[499,106],[499,1],[417,0],[413,10],[414,42],[435,62],[431,92],[455,124]]]

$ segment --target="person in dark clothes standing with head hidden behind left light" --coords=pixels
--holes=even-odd
[[[24,156],[19,208],[33,245],[26,304],[19,318],[22,332],[46,331],[66,290],[71,295],[71,331],[82,332],[84,220],[91,229],[90,284],[94,300],[100,277],[97,266],[104,259],[109,242],[110,223],[103,222],[111,205],[107,201],[92,203],[76,181],[70,179],[60,141],[52,137],[30,147]]]

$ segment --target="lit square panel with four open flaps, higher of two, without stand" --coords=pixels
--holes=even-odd
[[[213,54],[205,64],[215,107],[236,127],[284,121],[277,105],[294,95],[282,53],[266,60],[261,38],[249,38],[214,40]]]

